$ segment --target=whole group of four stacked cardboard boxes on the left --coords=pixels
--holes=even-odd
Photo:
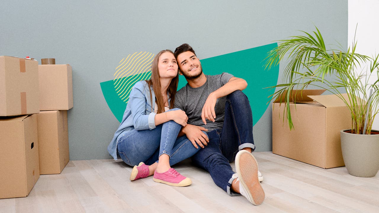
[[[40,174],[62,172],[72,107],[71,66],[0,56],[0,199],[28,196]]]

